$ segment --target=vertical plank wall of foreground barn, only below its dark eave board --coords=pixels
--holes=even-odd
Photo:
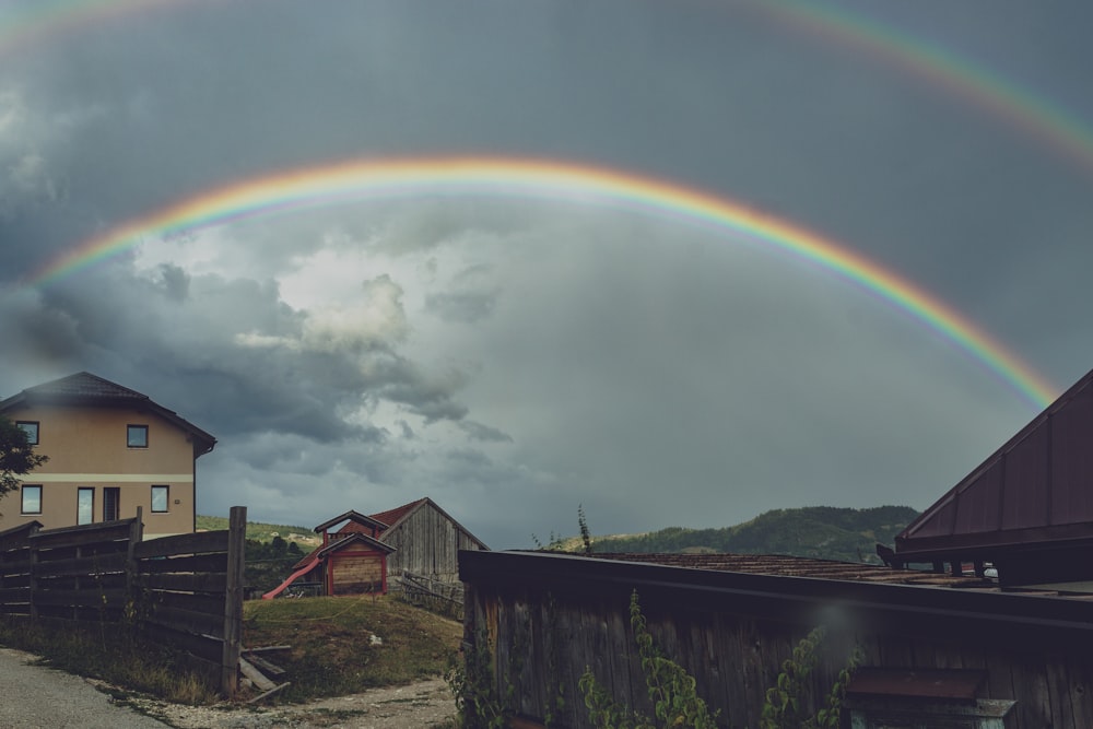
[[[691,610],[673,603],[670,595],[645,597],[643,612],[658,645],[696,678],[698,694],[712,709],[720,709],[719,724],[759,726],[765,690],[811,626],[729,610]],[[553,710],[553,726],[591,726],[577,687],[586,667],[616,699],[651,715],[628,598],[622,592],[566,595],[526,585],[467,585],[465,631],[472,646],[483,640],[490,646],[498,690],[512,683],[517,708],[527,718],[542,721]],[[985,670],[982,697],[1016,699],[1008,727],[1093,727],[1093,656],[1016,650],[1008,647],[1004,634],[971,645],[869,635],[847,626],[830,634],[807,703],[826,693],[855,643],[865,651],[865,666]]]

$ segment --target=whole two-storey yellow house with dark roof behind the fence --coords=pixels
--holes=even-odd
[[[49,460],[0,497],[0,531],[128,519],[145,539],[190,533],[197,459],[216,438],[146,395],[82,372],[0,400]]]

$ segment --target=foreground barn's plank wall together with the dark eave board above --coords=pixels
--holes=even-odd
[[[764,692],[777,680],[781,661],[812,627],[825,623],[830,635],[807,704],[834,682],[857,644],[865,666],[986,671],[982,697],[1015,699],[1008,726],[1016,729],[1093,727],[1093,639],[1086,624],[1093,619],[1081,618],[1088,604],[1080,601],[696,576],[704,571],[647,571],[595,560],[586,561],[599,562],[595,568],[571,560],[552,572],[537,562],[538,554],[481,556],[490,558],[475,560],[463,573],[465,639],[471,650],[486,647],[498,691],[512,684],[518,710],[530,719],[542,721],[553,710],[554,726],[591,726],[577,687],[585,667],[616,699],[651,714],[627,612],[636,588],[658,645],[695,677],[698,694],[720,709],[721,726],[759,726]],[[828,589],[816,593],[822,581]],[[916,599],[924,591],[929,601]],[[999,612],[1004,605],[1029,614],[976,612],[992,598]],[[1049,631],[1048,623],[1068,627]]]

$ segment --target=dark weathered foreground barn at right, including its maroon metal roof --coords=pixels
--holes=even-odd
[[[857,645],[863,662],[844,726],[1093,727],[1090,443],[1093,373],[908,526],[895,550],[879,550],[883,567],[463,552],[467,650],[486,651],[525,726],[549,715],[552,726],[591,726],[577,686],[586,667],[648,714],[627,612],[636,590],[655,639],[695,677],[721,726],[757,726],[781,661],[825,625],[802,698],[814,706]]]

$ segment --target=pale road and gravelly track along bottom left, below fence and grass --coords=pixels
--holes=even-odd
[[[204,707],[129,697],[128,706],[119,706],[94,682],[31,666],[32,660],[30,654],[0,648],[0,729],[427,729],[456,713],[440,679],[305,705]]]

